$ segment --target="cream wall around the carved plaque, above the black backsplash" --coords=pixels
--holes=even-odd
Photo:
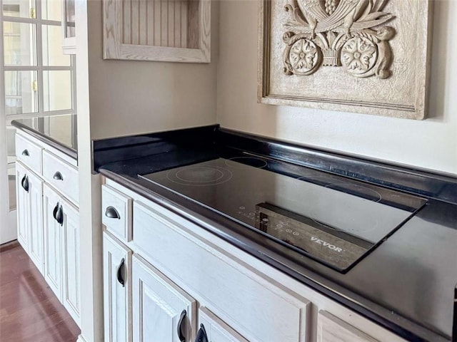
[[[224,128],[457,174],[457,1],[436,1],[427,120],[263,105],[257,1],[220,1],[217,119]]]

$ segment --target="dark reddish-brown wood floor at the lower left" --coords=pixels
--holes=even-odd
[[[79,333],[24,249],[0,246],[0,341],[74,342]]]

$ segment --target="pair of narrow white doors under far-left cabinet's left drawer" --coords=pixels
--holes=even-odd
[[[16,162],[18,240],[37,269],[43,273],[43,181]]]

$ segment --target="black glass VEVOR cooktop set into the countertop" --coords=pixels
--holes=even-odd
[[[224,157],[139,177],[341,272],[426,202],[266,157]]]

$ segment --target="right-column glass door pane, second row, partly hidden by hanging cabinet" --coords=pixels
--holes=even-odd
[[[62,28],[43,25],[43,65],[70,66],[70,56],[62,52]]]

